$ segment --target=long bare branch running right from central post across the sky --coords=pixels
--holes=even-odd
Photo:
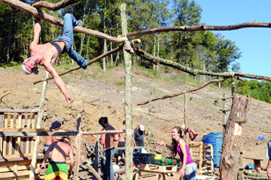
[[[262,23],[262,22],[247,22],[229,26],[207,26],[207,25],[199,25],[199,26],[172,26],[172,27],[164,27],[164,28],[154,28],[147,30],[139,30],[136,32],[127,33],[126,37],[132,37],[136,35],[146,35],[146,34],[154,34],[154,33],[163,33],[163,32],[172,32],[172,31],[204,31],[204,30],[238,30],[240,28],[271,28],[271,23]],[[124,35],[122,35],[124,37]]]

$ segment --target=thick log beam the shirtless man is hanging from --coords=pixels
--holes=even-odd
[[[37,10],[36,8],[33,8],[32,6],[29,6],[26,3],[23,3],[21,1],[18,0],[0,0],[1,3],[6,3],[10,6],[13,6],[19,10],[23,10],[24,12],[27,12],[29,15],[32,15],[34,17],[38,17],[44,21],[47,21],[51,24],[54,24],[56,26],[61,26],[63,27],[63,20],[58,19],[56,17],[53,17],[51,15],[48,14],[44,14],[41,10]],[[84,33],[85,35],[91,35],[91,36],[95,36],[95,37],[100,37],[102,39],[106,39],[110,42],[114,42],[115,44],[119,44],[121,42],[124,42],[126,40],[126,38],[122,37],[122,38],[117,38],[117,37],[111,37],[109,35],[106,35],[104,33],[100,33],[97,30],[90,30],[87,28],[82,28],[79,26],[74,27],[74,31],[78,32],[78,33]]]

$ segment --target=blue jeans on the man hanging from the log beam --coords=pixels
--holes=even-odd
[[[67,55],[69,55],[69,57],[71,57],[79,66],[83,67],[83,69],[86,69],[88,63],[85,61],[85,58],[72,49],[72,43],[74,42],[74,26],[78,26],[79,22],[69,13],[63,17],[63,21],[63,35],[56,40],[64,40],[67,44]]]

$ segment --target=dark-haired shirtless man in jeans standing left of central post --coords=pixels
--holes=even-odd
[[[108,124],[107,117],[99,118],[99,124],[101,127],[104,127],[102,131],[115,130],[114,127]],[[104,154],[101,156],[101,172],[103,172],[103,180],[115,180],[114,170],[113,170],[113,161],[112,158],[115,154],[115,147],[113,142],[119,141],[119,134],[101,134],[99,143],[104,147]]]

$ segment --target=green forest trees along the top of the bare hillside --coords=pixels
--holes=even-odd
[[[33,5],[36,0],[20,0]],[[49,1],[57,3],[56,0]],[[70,12],[76,19],[83,21],[88,29],[98,30],[107,35],[117,37],[121,35],[120,4],[127,4],[128,31],[138,31],[165,26],[197,26],[201,22],[203,9],[196,1],[191,0],[88,0],[80,1],[58,11],[43,9],[49,15],[62,19]],[[0,66],[19,66],[24,59],[30,57],[29,44],[33,39],[33,24],[35,17],[28,13],[0,3]],[[62,35],[62,28],[42,21],[40,44],[54,41]],[[139,48],[144,49],[156,57],[178,62],[192,69],[223,73],[240,71],[240,64],[235,62],[242,56],[242,52],[235,45],[234,39],[225,39],[220,34],[211,31],[202,32],[169,32],[151,35],[140,35],[142,43]],[[74,32],[73,48],[83,57],[93,58],[120,46],[104,39]],[[170,73],[176,71],[168,66],[154,65],[132,56],[133,66],[144,67],[154,73]],[[110,55],[100,62],[101,69],[106,71],[124,63],[122,52]],[[76,66],[66,54],[58,58],[55,66],[69,65],[67,69]],[[211,77],[201,76],[193,78],[182,75],[183,82],[188,80],[206,82]],[[231,86],[230,80],[217,84],[219,87]],[[243,80],[237,83],[237,93],[249,95],[252,98],[271,103],[271,82],[258,80]]]

